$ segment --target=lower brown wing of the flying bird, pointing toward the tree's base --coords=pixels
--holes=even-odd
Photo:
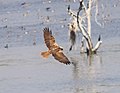
[[[59,62],[61,62],[61,63],[64,63],[64,64],[70,64],[70,61],[69,61],[69,59],[63,54],[63,52],[61,51],[61,50],[58,50],[58,51],[56,51],[56,50],[54,50],[53,52],[52,52],[52,55],[53,55],[53,57],[56,59],[56,60],[58,60]]]

